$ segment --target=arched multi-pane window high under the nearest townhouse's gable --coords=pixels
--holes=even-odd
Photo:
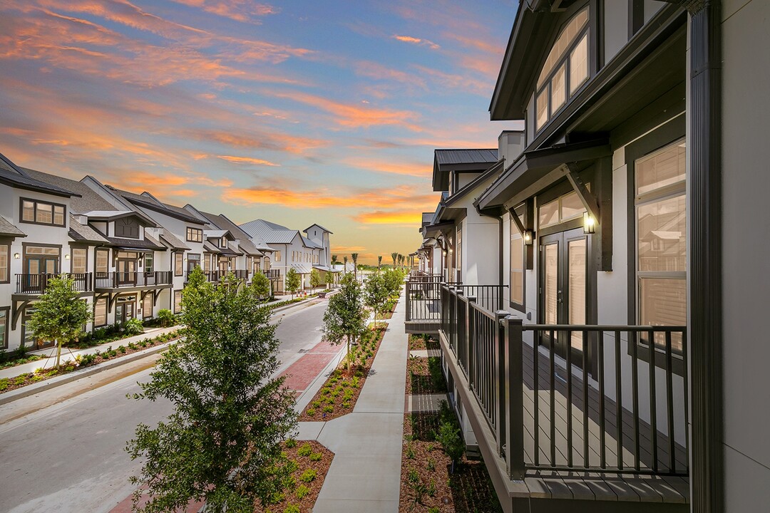
[[[588,80],[588,7],[567,23],[556,38],[537,78],[535,128],[543,128]]]

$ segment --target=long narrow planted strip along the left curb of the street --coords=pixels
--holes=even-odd
[[[153,338],[145,338],[138,342],[131,342],[128,345],[119,345],[117,348],[109,346],[105,351],[96,351],[91,355],[77,355],[75,360],[69,358],[69,355],[62,354],[62,359],[66,359],[59,366],[59,371],[53,368],[45,370],[38,369],[35,372],[25,372],[14,378],[0,378],[0,394],[15,390],[16,388],[22,388],[38,381],[44,381],[45,379],[53,378],[55,376],[69,374],[79,368],[92,367],[93,365],[99,365],[102,361],[113,360],[122,356],[131,355],[137,351],[142,351],[146,348],[152,348],[156,345],[165,344],[169,341],[175,341],[182,337],[182,330],[169,331],[165,335],[159,335]]]

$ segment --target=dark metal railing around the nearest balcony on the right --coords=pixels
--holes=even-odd
[[[444,287],[440,331],[511,479],[688,475],[685,327],[523,325]]]

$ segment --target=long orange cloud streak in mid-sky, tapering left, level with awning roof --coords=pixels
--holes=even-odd
[[[366,105],[350,105],[302,92],[268,92],[268,94],[276,98],[288,98],[294,102],[304,103],[329,112],[333,115],[334,122],[337,125],[346,128],[399,125],[413,132],[422,131],[419,125],[413,123],[418,117],[415,112],[397,111],[387,108],[370,108]]]

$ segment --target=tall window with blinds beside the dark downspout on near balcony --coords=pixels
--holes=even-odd
[[[687,198],[685,141],[634,162],[638,321],[641,325],[687,324]],[[655,345],[665,348],[665,337]],[[681,351],[681,335],[672,348]]]

